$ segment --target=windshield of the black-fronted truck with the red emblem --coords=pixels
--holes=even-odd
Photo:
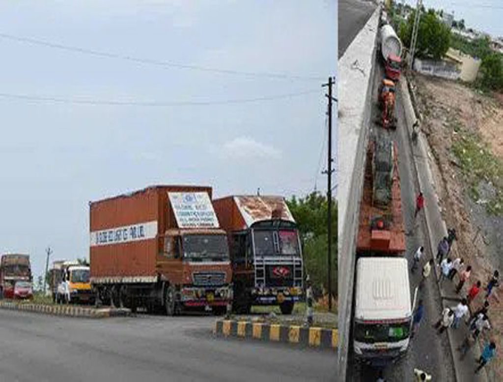
[[[255,254],[259,256],[300,254],[295,230],[256,230],[254,242]]]

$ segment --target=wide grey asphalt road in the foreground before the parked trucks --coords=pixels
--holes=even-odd
[[[0,310],[0,380],[330,381],[336,354],[215,339],[214,317],[72,319]]]

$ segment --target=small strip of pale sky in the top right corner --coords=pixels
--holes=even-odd
[[[396,0],[415,7],[415,0]],[[423,0],[425,8],[443,9],[454,12],[455,20],[465,20],[466,28],[489,33],[493,37],[503,36],[503,2],[501,0]]]

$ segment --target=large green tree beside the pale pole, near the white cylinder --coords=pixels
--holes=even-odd
[[[409,15],[406,27],[399,31],[399,37],[405,46],[410,46],[414,18],[415,11]],[[435,10],[430,9],[421,14],[415,55],[440,60],[449,49],[450,39],[451,30],[439,20]]]

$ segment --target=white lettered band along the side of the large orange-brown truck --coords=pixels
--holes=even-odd
[[[154,239],[157,236],[157,221],[148,221],[108,230],[91,232],[91,247],[106,246]]]

